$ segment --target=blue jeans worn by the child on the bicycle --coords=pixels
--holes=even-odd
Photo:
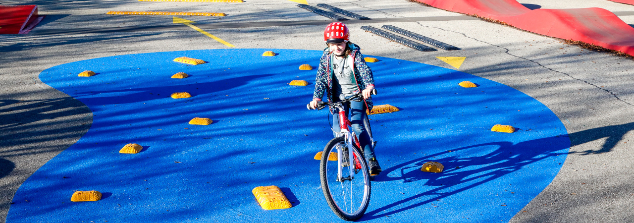
[[[339,100],[335,100],[339,101]],[[363,101],[350,101],[349,103],[344,103],[344,110],[346,110],[346,115],[352,124],[353,131],[356,133],[359,138],[359,144],[361,144],[361,148],[363,148],[363,153],[365,153],[365,159],[370,160],[370,158],[375,158],[374,148],[372,147],[372,142],[370,141],[370,135],[365,130],[365,125],[363,125],[363,120],[365,119],[366,106]],[[338,111],[337,111],[338,112]],[[341,131],[339,128],[339,114],[334,113],[332,115],[332,129],[335,132]],[[334,134],[334,133],[333,133]]]

